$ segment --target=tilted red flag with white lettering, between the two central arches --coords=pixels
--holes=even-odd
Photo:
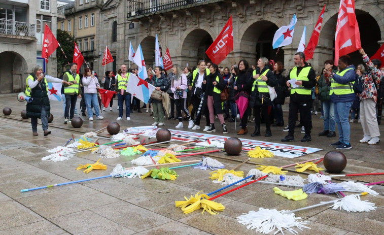
[[[212,43],[205,53],[212,59],[212,62],[219,64],[233,50],[233,25],[232,16],[225,24],[220,35],[215,42]]]

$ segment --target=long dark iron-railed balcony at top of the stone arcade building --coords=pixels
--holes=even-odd
[[[127,18],[183,7],[208,0],[136,0],[128,1]]]

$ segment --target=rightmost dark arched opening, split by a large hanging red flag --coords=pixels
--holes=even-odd
[[[380,48],[378,41],[381,39],[380,27],[375,18],[368,12],[362,10],[355,10],[356,19],[359,24],[361,46],[364,48],[368,56],[372,56]],[[337,23],[337,13],[334,14],[324,25],[321,33],[319,45],[324,46],[329,50],[328,56],[332,55],[335,58],[335,32]],[[367,27],[369,25],[369,27]],[[353,64],[363,63],[363,59],[359,51],[349,54]],[[325,58],[327,60],[329,58]],[[324,60],[321,60],[324,61]]]

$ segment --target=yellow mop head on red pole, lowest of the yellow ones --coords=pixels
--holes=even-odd
[[[174,204],[176,207],[181,208],[185,214],[189,214],[200,208],[203,208],[201,214],[203,214],[204,211],[207,211],[211,215],[216,215],[218,214],[217,211],[224,211],[224,206],[221,203],[208,200],[211,197],[206,194],[199,194],[200,192],[197,192],[195,197],[191,196],[189,199],[184,197],[185,200],[177,200]]]

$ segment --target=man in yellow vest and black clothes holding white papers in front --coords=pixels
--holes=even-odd
[[[291,88],[291,96],[289,100],[289,115],[288,115],[288,135],[282,142],[295,141],[293,136],[297,112],[300,111],[300,118],[304,123],[305,135],[301,142],[311,141],[310,129],[312,128],[312,117],[310,113],[311,104],[311,89],[316,85],[315,71],[305,62],[303,52],[297,52],[294,57],[295,66],[290,71],[290,80],[287,81],[287,86]],[[293,84],[291,84],[292,82]]]

